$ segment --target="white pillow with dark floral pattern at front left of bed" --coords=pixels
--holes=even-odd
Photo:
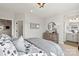
[[[3,56],[15,56],[18,55],[18,52],[10,40],[3,41],[0,43],[0,50],[2,51]]]

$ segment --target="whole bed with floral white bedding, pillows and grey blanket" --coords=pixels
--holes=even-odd
[[[55,43],[43,39],[11,38],[0,35],[0,56],[63,56],[62,49]]]

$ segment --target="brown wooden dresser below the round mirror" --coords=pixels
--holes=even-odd
[[[57,32],[49,33],[48,31],[46,31],[43,33],[43,39],[58,43],[58,33]]]

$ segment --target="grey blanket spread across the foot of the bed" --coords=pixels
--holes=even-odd
[[[25,40],[44,50],[49,56],[51,56],[52,53],[54,53],[56,56],[64,56],[64,52],[62,51],[61,47],[54,42],[39,38],[29,38]]]

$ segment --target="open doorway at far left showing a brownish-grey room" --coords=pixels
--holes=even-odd
[[[12,36],[12,20],[0,19],[0,35],[1,34]]]

